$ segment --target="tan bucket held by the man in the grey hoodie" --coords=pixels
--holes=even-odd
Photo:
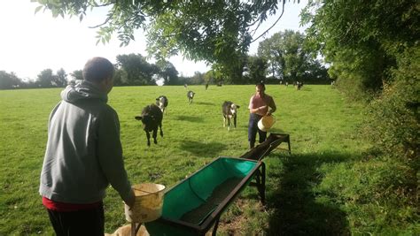
[[[150,222],[162,215],[163,195],[165,186],[144,183],[133,186],[136,195],[134,207],[129,209],[124,205],[124,212],[128,222]]]

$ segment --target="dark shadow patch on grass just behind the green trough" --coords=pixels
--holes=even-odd
[[[203,143],[199,141],[188,141],[184,140],[181,142],[180,148],[191,152],[194,156],[214,156],[220,155],[221,150],[226,148],[226,145],[221,142],[209,142]]]

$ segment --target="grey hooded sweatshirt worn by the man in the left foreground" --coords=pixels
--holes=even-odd
[[[61,98],[50,115],[39,193],[55,202],[93,203],[111,184],[127,201],[120,122],[107,95],[83,80]]]

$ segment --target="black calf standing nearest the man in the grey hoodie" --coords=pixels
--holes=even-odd
[[[160,129],[160,136],[163,137],[162,132],[162,118],[163,113],[159,109],[159,107],[155,104],[150,104],[142,110],[141,116],[135,117],[137,120],[141,120],[143,123],[143,129],[146,133],[147,137],[147,146],[151,146],[151,135],[149,132],[153,132],[153,142],[155,144],[158,144],[158,141],[156,140],[156,137],[158,136],[158,127]]]

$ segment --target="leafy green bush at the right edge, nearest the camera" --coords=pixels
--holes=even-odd
[[[387,159],[387,165],[393,164],[392,168],[379,173],[381,181],[374,187],[381,193],[379,201],[407,209],[408,213],[404,214],[408,217],[413,217],[411,209],[418,206],[420,190],[419,55],[417,47],[397,57],[398,67],[391,70],[391,83],[369,104],[364,130],[367,138],[377,144],[375,148],[381,156]]]

